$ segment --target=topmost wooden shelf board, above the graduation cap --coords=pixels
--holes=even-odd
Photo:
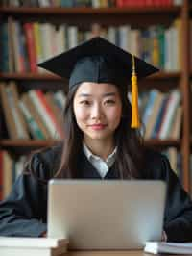
[[[20,20],[41,20],[42,22],[64,22],[90,27],[91,23],[103,25],[134,24],[149,26],[150,24],[169,25],[180,15],[181,7],[132,7],[132,8],[1,8],[2,17],[12,15]],[[143,22],[145,20],[145,22]]]

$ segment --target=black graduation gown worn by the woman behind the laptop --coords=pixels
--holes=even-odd
[[[23,173],[14,183],[8,198],[0,203],[0,236],[38,237],[46,231],[47,184],[43,180],[48,181],[54,176],[60,165],[60,155],[59,145],[33,156],[31,165],[38,179]],[[84,152],[79,155],[78,166],[77,179],[101,179]],[[163,228],[168,241],[192,241],[192,202],[167,158],[147,149],[141,175],[142,179],[163,180],[167,184]],[[113,165],[105,179],[118,178],[118,170]]]

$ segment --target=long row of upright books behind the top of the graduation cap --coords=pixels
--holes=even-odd
[[[181,66],[181,23],[170,27],[150,26],[135,29],[121,26],[91,24],[89,30],[75,25],[27,22],[8,18],[0,26],[0,70],[2,72],[43,72],[37,63],[60,54],[80,42],[100,36],[132,52],[150,64],[167,71],[179,71]],[[1,59],[2,58],[2,59]]]

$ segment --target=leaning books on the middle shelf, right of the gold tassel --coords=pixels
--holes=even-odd
[[[150,90],[140,98],[140,112],[145,126],[144,138],[180,139],[182,107],[180,90],[163,93]]]

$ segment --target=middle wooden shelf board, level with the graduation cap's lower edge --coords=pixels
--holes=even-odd
[[[151,75],[147,79],[179,79],[180,72],[158,72],[155,75]],[[36,73],[0,73],[0,80],[63,80],[59,76],[51,74],[36,74]]]

